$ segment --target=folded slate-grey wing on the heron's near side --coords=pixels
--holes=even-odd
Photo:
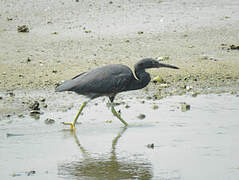
[[[98,96],[126,91],[133,78],[132,71],[123,65],[108,65],[91,70],[71,82],[70,91]]]

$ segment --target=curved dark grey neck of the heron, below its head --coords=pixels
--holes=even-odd
[[[137,79],[130,84],[130,90],[142,89],[147,86],[151,80],[149,73],[145,69],[135,69]]]

